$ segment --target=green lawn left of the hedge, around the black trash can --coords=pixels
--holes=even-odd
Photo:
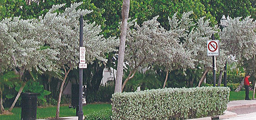
[[[88,104],[83,106],[84,115],[94,111],[103,109],[111,109],[111,104]],[[14,108],[12,115],[0,115],[0,120],[20,120],[21,108]],[[37,108],[37,119],[55,117],[56,106],[47,108]],[[68,108],[68,106],[60,106],[60,117],[76,116],[76,109]]]

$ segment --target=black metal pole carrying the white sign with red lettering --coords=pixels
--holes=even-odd
[[[84,20],[83,15],[80,16],[80,36],[79,45],[83,46],[83,26]],[[79,68],[79,102],[78,102],[78,120],[83,120],[83,109],[82,109],[82,94],[83,94],[83,68]]]

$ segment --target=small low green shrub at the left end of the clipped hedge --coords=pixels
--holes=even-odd
[[[112,120],[112,111],[111,110],[100,110],[98,112],[92,112],[85,116],[84,120]]]

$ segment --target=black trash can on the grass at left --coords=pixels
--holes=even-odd
[[[38,93],[21,93],[21,120],[36,120]]]

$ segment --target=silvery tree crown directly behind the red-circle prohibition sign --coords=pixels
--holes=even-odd
[[[193,23],[189,18],[192,12],[184,13],[181,20],[176,20],[176,14],[169,18],[169,24],[171,30],[180,28],[179,38],[183,38],[184,46],[190,50],[190,56],[194,59],[195,66],[203,65],[205,67],[212,66],[212,56],[207,56],[207,40],[211,40],[213,33],[216,33],[217,26],[212,28],[209,24],[209,20],[204,20],[204,17],[199,18],[198,22]],[[184,29],[182,31],[182,28]],[[220,43],[220,46],[222,44]],[[220,47],[220,55],[216,56],[217,67],[224,68],[224,62],[226,61],[225,51]]]

